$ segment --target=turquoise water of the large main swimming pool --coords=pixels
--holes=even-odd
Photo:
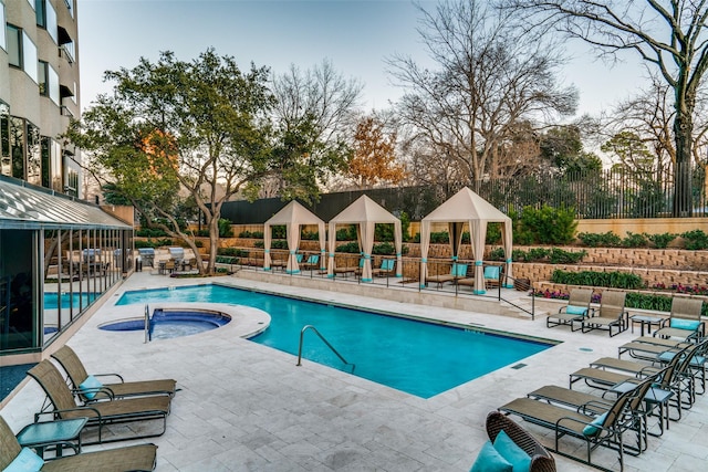
[[[301,329],[313,325],[355,367],[343,364],[311,331],[304,335],[303,358],[423,398],[552,346],[220,285],[126,292],[117,304],[158,301],[232,303],[263,310],[271,325],[251,340],[294,356]]]

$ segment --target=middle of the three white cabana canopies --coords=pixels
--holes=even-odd
[[[334,249],[336,244],[337,224],[356,224],[356,237],[358,248],[364,258],[362,268],[362,282],[372,282],[372,249],[374,248],[374,227],[376,223],[393,223],[394,240],[396,244],[396,276],[402,276],[402,245],[403,235],[400,231],[400,220],[391,214],[384,207],[376,203],[365,195],[346,207],[336,217],[330,220],[330,262],[327,264],[327,276],[334,276]]]

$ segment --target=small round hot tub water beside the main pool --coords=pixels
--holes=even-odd
[[[149,319],[150,339],[170,339],[216,329],[228,324],[231,316],[199,308],[156,308]],[[144,331],[145,318],[128,318],[98,325],[100,329]]]

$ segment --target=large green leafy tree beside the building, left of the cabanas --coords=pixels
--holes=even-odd
[[[132,70],[106,73],[113,93],[102,95],[67,138],[87,151],[87,168],[114,197],[132,202],[148,225],[184,240],[198,268],[212,273],[225,201],[272,175],[311,189],[303,175],[316,162],[277,151],[287,144],[274,140],[268,77],[268,69],[243,72],[214,50],[191,62],[170,52],[155,63],[142,59]],[[206,269],[176,217],[185,206],[196,206],[209,230]]]

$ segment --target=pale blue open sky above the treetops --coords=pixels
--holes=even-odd
[[[435,8],[435,0],[420,3]],[[77,15],[83,108],[111,91],[105,71],[133,69],[140,56],[155,61],[160,51],[190,61],[214,48],[236,57],[242,70],[253,62],[275,73],[329,59],[345,77],[364,84],[365,111],[386,108],[402,95],[391,84],[386,57],[427,60],[410,0],[80,0]],[[627,98],[646,75],[633,55],[610,69],[582,44],[572,53],[561,80],[579,88],[579,114],[597,114]]]

